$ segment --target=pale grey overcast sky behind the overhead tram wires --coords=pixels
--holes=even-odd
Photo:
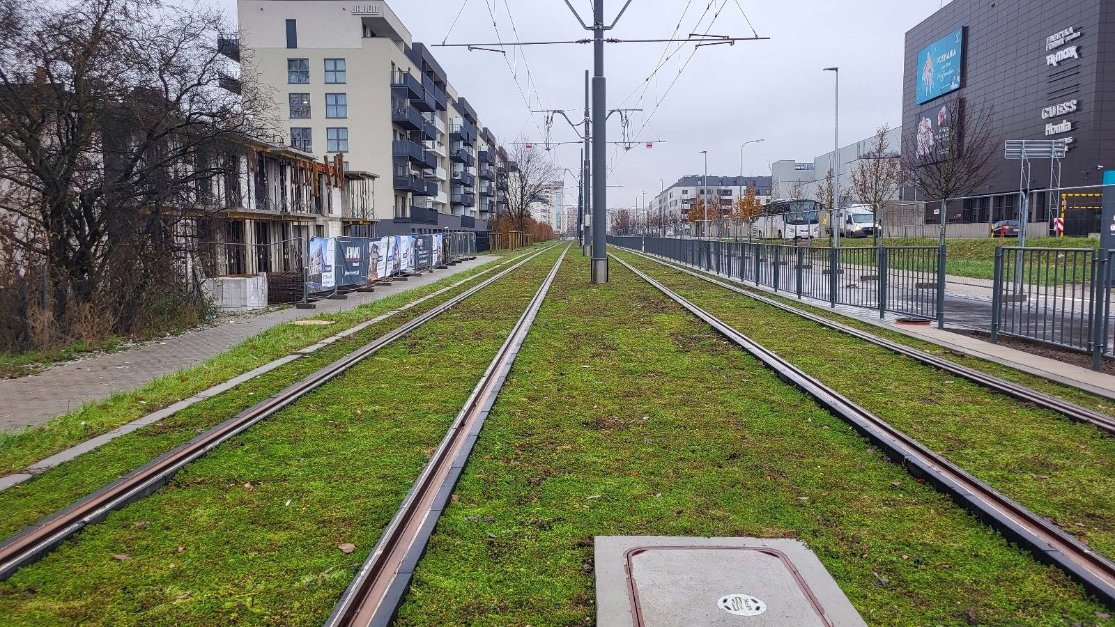
[[[572,1],[589,21],[590,0]],[[221,2],[235,15],[234,0]],[[658,193],[659,179],[669,185],[683,174],[701,174],[700,151],[709,153],[710,175],[737,174],[739,146],[749,139],[765,142],[744,149],[744,174],[768,175],[774,161],[812,162],[830,152],[833,73],[822,71],[825,67],[841,68],[841,145],[873,134],[880,124],[898,125],[902,113],[904,33],[932,15],[940,2],[691,0],[681,19],[680,36],[752,36],[743,15],[746,11],[755,31],[770,39],[701,47],[691,60],[694,45],[686,45],[669,57],[649,85],[644,79],[669,54],[666,44],[607,45],[609,108],[623,103],[623,107],[643,109],[631,117],[631,133],[639,132],[633,138],[640,143],[626,155],[615,146],[609,147],[610,165],[615,166],[610,183],[622,185],[609,190],[609,206],[632,206],[640,191],[650,197]],[[687,0],[633,0],[610,36],[668,38],[686,4]],[[489,44],[591,36],[581,29],[562,0],[388,0],[388,6],[415,41],[432,46],[446,37],[450,44]],[[621,7],[622,0],[607,0],[608,19],[613,19]],[[453,26],[458,11],[459,19]],[[670,52],[678,45],[671,46]],[[543,139],[543,116],[532,116],[527,113],[532,108],[573,109],[569,116],[581,118],[584,70],[592,67],[591,45],[508,46],[507,50],[506,58],[465,48],[435,47],[434,54],[449,81],[476,108],[482,123],[504,142],[520,137]],[[648,87],[644,95],[643,86]],[[633,90],[633,96],[624,100]],[[612,116],[608,132],[609,141],[621,138],[618,116]],[[552,133],[554,141],[576,141],[563,120],[554,123]],[[644,141],[662,143],[647,149]],[[578,146],[555,147],[553,154],[563,167],[578,168]],[[575,185],[573,176],[566,175],[566,181]],[[575,189],[568,197],[566,202],[575,202]]]

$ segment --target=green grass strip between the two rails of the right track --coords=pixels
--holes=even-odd
[[[678,270],[622,257],[1092,548],[1115,556],[1115,438]]]

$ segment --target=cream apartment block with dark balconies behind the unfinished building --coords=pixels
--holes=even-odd
[[[236,58],[273,94],[274,143],[390,181],[375,186],[369,229],[330,220],[328,235],[487,231],[495,137],[386,2],[236,8]]]

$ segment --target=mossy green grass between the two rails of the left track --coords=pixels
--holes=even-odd
[[[559,253],[17,571],[0,625],[320,625]]]

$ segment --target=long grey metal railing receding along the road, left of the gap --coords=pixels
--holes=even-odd
[[[609,243],[678,261],[831,307],[845,305],[939,319],[944,299],[937,247],[831,249],[618,235]]]

